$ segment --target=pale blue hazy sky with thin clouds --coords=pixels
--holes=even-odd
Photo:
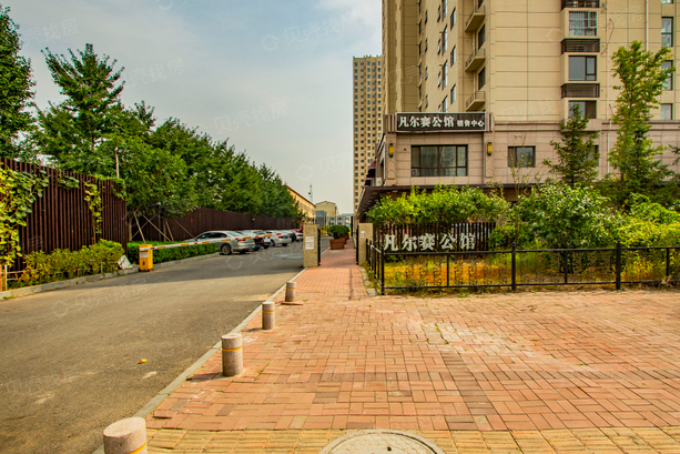
[[[380,52],[379,0],[0,0],[58,102],[41,49],[92,43],[144,100],[273,167],[314,202],[352,211],[352,58]]]

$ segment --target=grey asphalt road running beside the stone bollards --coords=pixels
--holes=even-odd
[[[92,453],[297,274],[302,253],[297,242],[0,301],[0,453]]]

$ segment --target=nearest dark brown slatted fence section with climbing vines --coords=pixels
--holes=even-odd
[[[118,198],[121,188],[112,181],[104,181],[80,173],[63,172],[42,165],[27,164],[2,159],[0,163],[6,169],[35,174],[45,172],[50,182],[32,206],[32,213],[27,218],[27,226],[19,229],[21,252],[52,252],[57,249],[79,250],[84,245],[94,244],[92,212],[85,202],[84,183],[97,184],[102,198],[102,233],[99,238],[128,242],[126,205]],[[69,176],[78,180],[77,188],[68,188],[63,182]],[[12,271],[23,269],[21,258],[12,266]]]

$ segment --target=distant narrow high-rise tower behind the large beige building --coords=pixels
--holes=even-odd
[[[383,62],[378,57],[353,59],[354,210],[383,135]]]

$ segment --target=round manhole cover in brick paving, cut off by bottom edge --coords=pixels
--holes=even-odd
[[[333,441],[321,454],[444,454],[444,451],[406,432],[362,431]]]

